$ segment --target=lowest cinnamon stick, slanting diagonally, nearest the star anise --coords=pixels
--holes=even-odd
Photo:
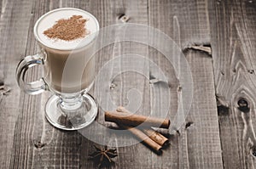
[[[145,144],[154,149],[156,152],[161,152],[162,146],[160,146],[160,144],[155,143],[154,140],[152,140],[151,138],[148,138],[148,136],[139,129],[123,125],[119,125],[119,127],[125,128],[126,130],[133,133],[137,138],[141,139]]]

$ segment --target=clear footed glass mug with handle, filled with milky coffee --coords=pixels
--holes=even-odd
[[[44,31],[57,20],[82,15],[89,35],[79,40],[53,40]],[[49,26],[50,25],[50,26]],[[95,58],[92,57],[99,24],[96,18],[79,8],[57,8],[41,16],[34,26],[40,52],[26,56],[16,69],[19,87],[29,94],[54,93],[45,105],[45,116],[55,127],[78,130],[90,125],[97,115],[95,100],[87,93],[93,85]],[[43,65],[44,77],[25,82],[26,70]]]

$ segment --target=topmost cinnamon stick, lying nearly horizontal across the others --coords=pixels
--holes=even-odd
[[[116,122],[128,126],[136,127],[138,125],[148,127],[162,127],[168,128],[170,126],[170,120],[160,119],[155,117],[148,117],[145,115],[134,115],[125,111],[125,114],[119,112],[105,112],[105,121]]]

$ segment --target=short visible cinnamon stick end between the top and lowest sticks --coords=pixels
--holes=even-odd
[[[164,147],[169,142],[168,138],[160,134],[160,132],[156,132],[149,128],[143,128],[143,132],[145,132],[145,134],[148,135],[148,137],[151,138],[154,142],[160,144],[160,146]]]

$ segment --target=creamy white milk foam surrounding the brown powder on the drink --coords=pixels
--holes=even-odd
[[[89,35],[72,41],[50,39],[44,35],[44,31],[55,25],[56,21],[61,19],[67,20],[73,15],[81,15],[85,20],[87,20],[85,22],[85,29],[89,31]],[[44,14],[36,23],[34,27],[34,34],[39,42],[43,43],[49,48],[72,50],[74,48],[78,48],[79,46],[85,46],[86,44],[89,44],[96,37],[96,32],[98,30],[98,22],[92,14],[78,8],[61,8]]]

